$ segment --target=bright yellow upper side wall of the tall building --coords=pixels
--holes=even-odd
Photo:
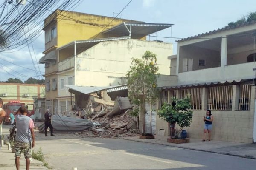
[[[65,15],[67,17],[73,18],[74,20],[69,19],[67,17],[63,17],[61,15]],[[58,47],[65,45],[74,40],[92,39],[97,34],[99,34],[106,26],[108,26],[108,24],[111,23],[111,21],[113,20],[113,17],[84,14],[84,13],[72,12],[72,11],[68,11],[68,12],[63,11],[61,12],[61,15],[58,15],[57,17],[58,18],[57,19]],[[84,23],[81,23],[78,20],[83,21]],[[108,26],[108,28],[111,28],[123,22],[131,22],[131,20],[116,18]],[[89,23],[89,24],[86,24],[86,23]],[[90,24],[94,24],[96,26],[92,26]],[[105,35],[99,35],[97,38],[103,38],[104,36]],[[113,35],[111,37],[115,37],[115,36]]]

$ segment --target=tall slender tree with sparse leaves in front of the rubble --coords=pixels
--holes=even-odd
[[[127,72],[129,98],[134,104],[131,115],[137,117],[141,112],[142,134],[145,134],[145,101],[156,101],[157,90],[157,55],[145,51],[141,59],[134,58]]]

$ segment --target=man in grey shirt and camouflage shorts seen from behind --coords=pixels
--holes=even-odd
[[[34,122],[33,120],[26,116],[27,109],[25,106],[20,107],[20,115],[16,117],[16,127],[17,133],[15,137],[15,165],[16,169],[20,170],[20,156],[23,151],[26,159],[26,170],[29,170],[30,161],[29,158],[32,157],[31,148],[35,147],[35,133],[34,133]],[[31,146],[31,136],[32,136],[32,146]]]

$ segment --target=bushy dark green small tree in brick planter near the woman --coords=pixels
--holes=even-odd
[[[190,110],[190,103],[190,98],[172,98],[172,104],[164,103],[164,105],[158,110],[159,117],[171,125],[171,134],[170,138],[167,139],[167,142],[189,142],[188,138],[184,139],[183,137],[182,139],[182,137],[180,137],[180,133],[184,127],[189,127],[192,122],[193,112]],[[179,125],[180,129],[175,128],[176,123]]]

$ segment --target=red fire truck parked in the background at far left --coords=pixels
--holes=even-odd
[[[8,103],[3,105],[3,109],[6,112],[6,117],[4,119],[5,124],[10,123],[10,120],[9,120],[10,114],[11,113],[15,114],[21,106],[25,106],[25,103],[21,103],[20,101],[9,101]],[[26,107],[28,109],[27,116],[30,117],[35,114],[33,104],[29,104]]]

